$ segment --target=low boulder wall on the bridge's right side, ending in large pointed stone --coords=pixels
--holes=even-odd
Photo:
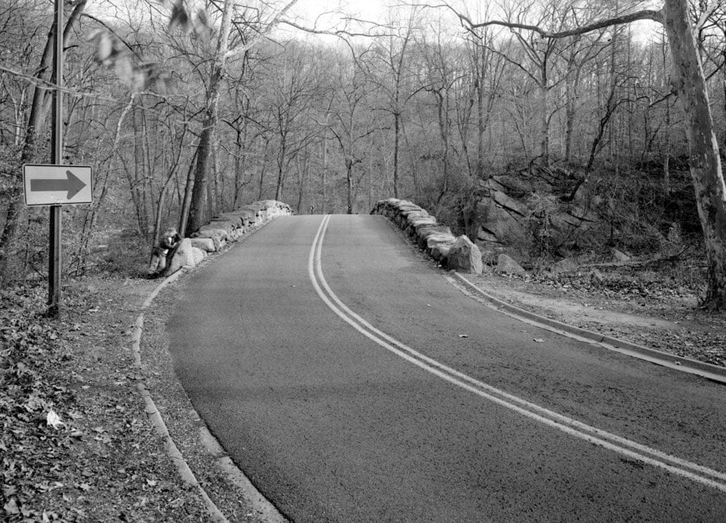
[[[379,200],[370,214],[391,219],[441,267],[481,274],[483,266],[479,248],[466,235],[455,237],[449,227],[439,224],[435,216],[413,202],[398,198]]]

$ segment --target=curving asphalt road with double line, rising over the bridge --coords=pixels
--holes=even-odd
[[[296,522],[726,521],[726,387],[482,306],[382,217],[275,219],[169,328],[211,432]]]

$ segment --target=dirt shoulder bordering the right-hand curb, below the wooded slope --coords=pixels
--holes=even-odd
[[[515,316],[626,348],[674,368],[690,365],[713,372],[723,376],[717,380],[726,381],[726,318],[722,315],[685,305],[664,309],[662,301],[654,304],[643,297],[635,303],[643,312],[635,314],[634,304],[626,298],[616,301],[595,292],[568,292],[493,273],[457,278],[468,290],[478,290],[478,296]]]

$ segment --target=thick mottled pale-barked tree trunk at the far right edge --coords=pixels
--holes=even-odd
[[[690,175],[703,228],[709,288],[706,304],[726,307],[726,183],[706,92],[701,59],[689,22],[686,0],[665,0],[664,25],[677,75],[678,99],[685,114]]]

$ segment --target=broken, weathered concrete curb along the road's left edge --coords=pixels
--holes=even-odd
[[[250,231],[248,235],[253,235],[262,227],[271,222],[272,219],[264,222],[259,227],[256,227],[254,230]],[[245,235],[245,237],[247,237],[248,235]],[[229,252],[229,249],[221,251],[219,252],[219,254],[226,254],[227,252]],[[136,322],[134,323],[134,328],[131,332],[131,351],[134,353],[134,367],[137,367],[138,369],[142,368],[141,336],[144,331],[144,311],[146,311],[146,309],[151,306],[152,301],[154,301],[154,298],[158,296],[163,288],[165,288],[170,283],[174,283],[176,280],[179,279],[179,277],[181,277],[183,273],[184,269],[180,269],[179,271],[174,272],[173,275],[166,277],[159,285],[156,286],[154,290],[152,290],[152,293],[146,298],[146,300],[144,300],[144,303],[140,307],[141,312],[139,313],[139,316],[136,317]],[[155,430],[166,441],[166,453],[171,459],[172,463],[174,463],[174,466],[176,466],[176,470],[177,472],[179,472],[179,477],[181,477],[181,480],[186,482],[187,485],[191,485],[192,487],[197,489],[197,492],[199,493],[200,498],[202,498],[202,501],[205,504],[205,508],[209,514],[209,521],[215,523],[229,523],[229,519],[227,519],[227,517],[222,514],[216,504],[211,500],[202,485],[200,485],[200,482],[197,480],[194,472],[192,472],[191,467],[189,467],[189,464],[184,459],[184,456],[181,455],[179,448],[176,446],[176,443],[174,443],[174,439],[171,438],[171,434],[169,434],[166,422],[164,422],[164,419],[161,417],[161,414],[157,409],[154,400],[151,397],[151,393],[146,388],[144,382],[139,380],[139,382],[136,384],[136,388],[139,390],[139,394],[144,400],[144,411],[148,415]],[[242,492],[247,495],[248,501],[250,501],[252,508],[257,511],[258,514],[261,514],[263,516],[264,521],[269,523],[287,522],[287,519],[285,519],[285,517],[282,516],[279,511],[277,511],[272,503],[267,501],[264,495],[262,495],[254,487],[254,485],[252,485],[250,480],[248,480],[248,477],[245,476],[245,473],[242,472],[237,467],[237,465],[234,464],[229,456],[227,456],[227,453],[224,452],[224,449],[219,444],[219,441],[214,438],[214,436],[206,429],[206,427],[203,427],[200,430],[200,438],[202,439],[203,444],[208,449],[208,451],[210,451],[210,453],[213,455],[213,458],[215,459],[217,466],[219,466],[219,469],[221,469],[221,471],[227,476],[227,479],[232,482],[232,484],[237,485],[242,490]]]

